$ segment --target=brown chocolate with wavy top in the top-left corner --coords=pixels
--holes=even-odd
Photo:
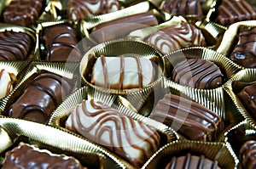
[[[3,21],[13,25],[34,25],[42,8],[42,0],[12,0],[3,10]]]

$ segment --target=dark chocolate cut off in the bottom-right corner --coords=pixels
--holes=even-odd
[[[256,166],[256,141],[248,140],[242,144],[240,157],[243,166],[247,169],[253,169]]]

